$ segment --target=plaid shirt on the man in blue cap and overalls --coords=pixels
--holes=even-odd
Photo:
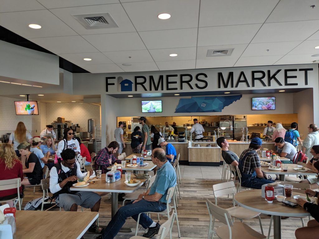
[[[244,174],[252,174],[255,171],[255,168],[261,168],[260,159],[255,149],[248,148],[241,153],[239,162],[241,162],[247,153],[250,154],[246,157],[246,159],[244,159],[244,162],[242,162],[242,168],[240,170]]]

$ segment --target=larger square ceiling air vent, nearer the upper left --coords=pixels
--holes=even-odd
[[[72,15],[86,29],[100,29],[119,27],[111,15],[106,13]]]

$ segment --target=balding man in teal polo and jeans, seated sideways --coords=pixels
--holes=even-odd
[[[106,229],[102,230],[102,235],[98,236],[97,239],[113,239],[124,225],[126,218],[132,217],[137,221],[140,213],[142,214],[139,224],[145,229],[148,228],[143,237],[152,238],[158,234],[159,223],[154,222],[144,212],[166,210],[167,190],[176,185],[176,173],[173,166],[167,161],[164,149],[153,149],[151,158],[152,162],[159,167],[154,183],[147,192],[140,194],[136,200],[120,207]]]

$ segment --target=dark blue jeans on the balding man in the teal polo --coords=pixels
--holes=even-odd
[[[134,204],[132,202],[133,201],[120,207],[112,220],[108,223],[106,229],[103,230],[103,239],[113,239],[120,231],[128,217],[132,217],[135,221],[137,221],[138,214],[142,213],[140,215],[139,224],[146,229],[152,225],[153,220],[144,212],[162,212],[166,210],[166,203],[162,202],[149,202],[144,199]]]

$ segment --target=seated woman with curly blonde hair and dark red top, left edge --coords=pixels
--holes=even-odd
[[[22,163],[9,143],[0,144],[0,180],[21,178],[23,180]],[[20,194],[22,188],[20,187]],[[13,207],[13,198],[16,198],[17,189],[7,189],[0,191],[0,200],[7,200],[10,207]]]

